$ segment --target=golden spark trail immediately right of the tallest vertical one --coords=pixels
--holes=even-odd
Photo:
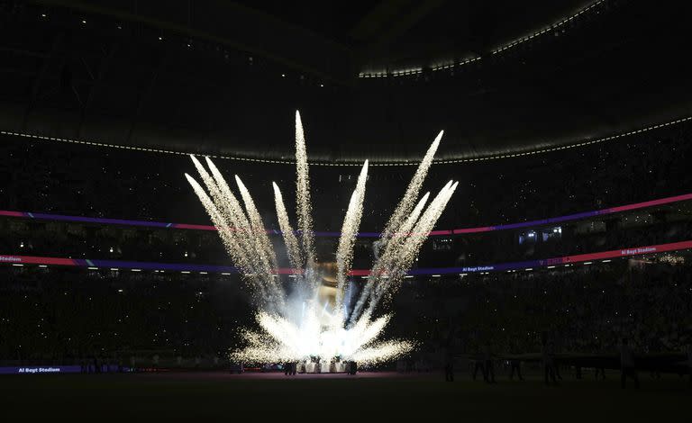
[[[363,200],[365,199],[365,183],[368,180],[368,160],[365,161],[360,169],[356,188],[351,194],[349,208],[341,226],[341,237],[339,247],[336,250],[336,310],[341,311],[343,291],[346,279],[351,271],[353,261],[353,245],[356,242],[356,235],[360,227],[360,219],[363,216]]]

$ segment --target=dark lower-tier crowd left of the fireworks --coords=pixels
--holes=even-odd
[[[0,267],[0,357],[224,356],[248,293],[228,276]]]

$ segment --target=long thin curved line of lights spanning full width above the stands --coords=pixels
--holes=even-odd
[[[640,134],[642,132],[646,132],[649,130],[657,130],[659,128],[663,128],[663,127],[670,126],[670,125],[676,125],[678,123],[682,123],[684,121],[689,121],[689,120],[692,120],[692,116],[680,118],[680,119],[677,119],[675,121],[667,121],[665,123],[659,123],[656,125],[651,125],[651,126],[648,126],[646,128],[642,128],[640,130],[630,130],[630,131],[623,132],[620,134],[611,135],[609,137],[604,137],[604,138],[599,138],[599,139],[591,139],[591,140],[582,141],[582,142],[578,142],[575,144],[569,144],[569,145],[560,146],[560,147],[540,148],[540,149],[534,149],[531,151],[523,151],[523,152],[519,152],[519,153],[498,154],[495,156],[486,156],[486,157],[451,158],[451,159],[434,160],[432,162],[432,164],[433,165],[453,165],[453,164],[458,164],[458,163],[497,160],[500,158],[524,157],[524,156],[533,156],[535,154],[551,153],[551,152],[559,151],[559,150],[563,150],[563,149],[586,147],[586,146],[598,144],[598,143],[601,143],[604,141],[610,141],[613,139],[620,139],[620,138],[624,138],[624,137],[629,137],[629,136],[637,135],[637,134]],[[0,130],[0,135],[12,135],[15,137],[24,137],[24,138],[59,141],[59,142],[68,142],[68,143],[72,143],[72,144],[83,144],[83,145],[90,145],[90,146],[96,146],[96,147],[121,148],[121,149],[129,149],[129,150],[133,150],[133,151],[174,154],[174,155],[178,155],[178,156],[189,156],[190,154],[192,154],[192,153],[188,153],[188,152],[184,152],[184,151],[175,151],[175,150],[160,149],[160,148],[122,146],[122,145],[117,145],[117,144],[107,144],[105,142],[84,141],[84,140],[79,140],[79,139],[65,139],[65,138],[59,138],[59,137],[46,137],[43,135],[28,134],[28,133],[23,133],[23,132],[14,132],[12,130]],[[196,153],[196,154],[199,155],[199,153]],[[219,159],[225,159],[225,160],[237,160],[237,161],[244,161],[244,162],[251,162],[251,163],[267,163],[267,164],[273,164],[273,165],[292,165],[292,166],[296,165],[296,162],[292,161],[292,160],[278,160],[278,159],[256,158],[256,157],[234,157],[234,156],[222,156],[222,155],[214,155],[214,154],[205,154],[204,156],[210,157],[210,158],[219,158]],[[360,163],[330,163],[330,162],[311,162],[310,165],[311,166],[362,166],[362,164],[360,164]],[[370,163],[370,166],[418,166],[418,165],[419,165],[419,162],[417,162],[415,160],[407,161],[407,162],[372,162],[372,163]]]

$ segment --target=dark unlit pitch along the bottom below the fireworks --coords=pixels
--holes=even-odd
[[[35,374],[0,378],[2,421],[163,421],[200,419],[365,419],[420,421],[688,421],[687,379],[641,374],[642,388],[621,390],[606,381],[565,378],[557,387],[537,375],[525,382],[471,381],[458,374],[296,375]],[[389,420],[385,420],[389,421]]]

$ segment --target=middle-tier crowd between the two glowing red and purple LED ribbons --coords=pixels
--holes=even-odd
[[[435,236],[424,245],[417,266],[482,266],[575,254],[642,247],[692,239],[692,222],[680,219],[687,202],[656,211],[622,212],[575,220],[558,228],[508,229],[451,237]],[[533,232],[533,237],[527,233]],[[273,236],[281,266],[289,266],[280,236]],[[372,243],[360,238],[355,265],[373,263]],[[521,239],[521,242],[520,242]],[[321,259],[333,260],[337,238],[319,237]],[[23,256],[122,259],[168,263],[227,265],[218,235],[210,230],[152,229],[17,218],[0,219],[0,253]]]

